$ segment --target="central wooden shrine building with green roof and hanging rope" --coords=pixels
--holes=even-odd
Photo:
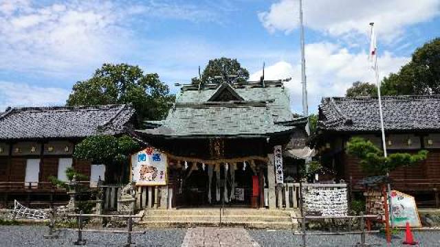
[[[275,207],[276,184],[293,165],[280,164],[281,153],[304,145],[305,124],[293,117],[283,80],[223,82],[182,86],[168,117],[137,134],[168,157],[173,207]]]

